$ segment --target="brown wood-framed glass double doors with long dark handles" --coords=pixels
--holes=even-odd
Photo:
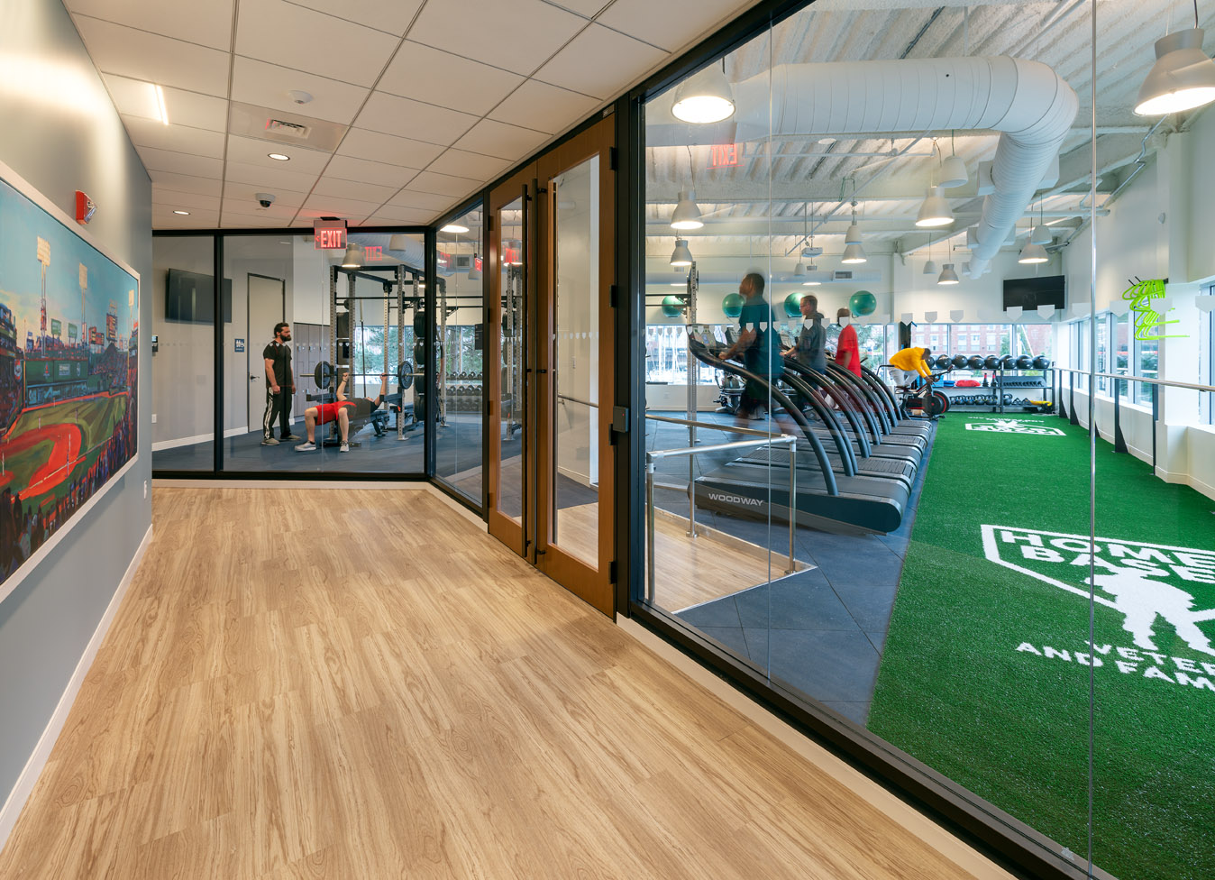
[[[612,613],[614,120],[490,198],[490,532]]]

